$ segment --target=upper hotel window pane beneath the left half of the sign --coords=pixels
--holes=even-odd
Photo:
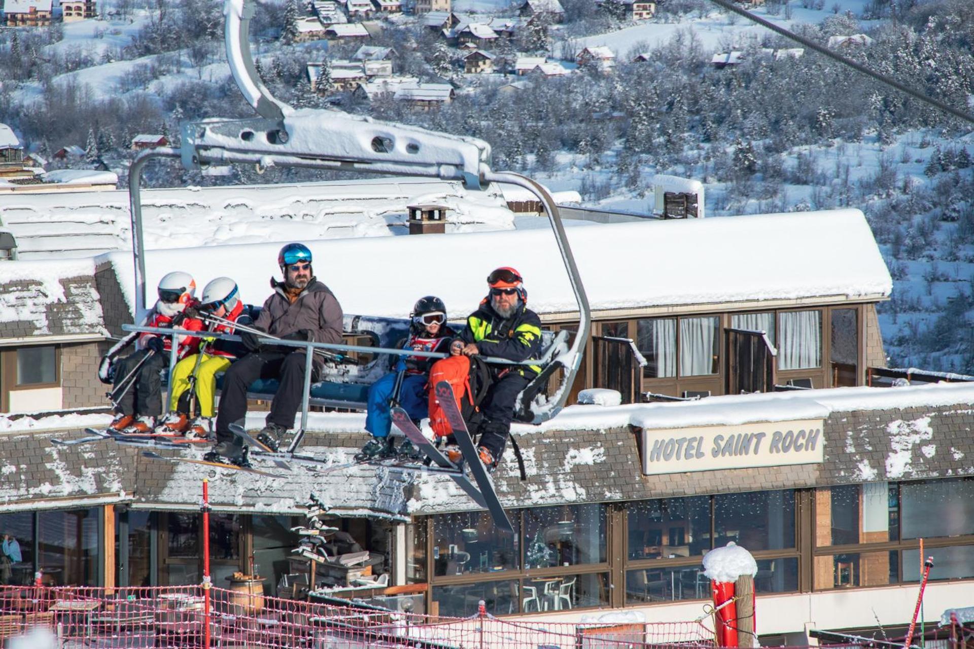
[[[629,504],[629,559],[673,559],[710,550],[710,497]]]

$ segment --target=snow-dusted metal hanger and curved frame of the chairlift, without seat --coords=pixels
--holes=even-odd
[[[139,183],[145,164],[156,158],[179,158],[188,169],[206,168],[211,164],[251,163],[258,169],[289,166],[459,180],[472,190],[483,190],[492,182],[516,185],[541,201],[579,306],[579,330],[575,340],[567,352],[557,357],[557,362],[565,367],[565,376],[549,401],[553,406],[542,414],[536,413],[535,423],[541,423],[557,413],[564,405],[581,366],[581,351],[587,339],[591,314],[558,207],[542,185],[520,174],[492,171],[490,145],[476,138],[384,123],[339,111],[295,111],[276,99],[256,73],[249,46],[250,19],[254,13],[252,3],[247,0],[225,0],[223,13],[226,17],[224,41],[231,72],[244,98],[260,117],[186,123],[182,126],[181,148],[146,150],[131,163],[129,194],[135,266],[135,316],[139,317],[146,309],[145,243]],[[329,345],[326,348],[355,349],[350,345]],[[376,351],[375,348],[363,350]],[[306,401],[311,361],[309,355],[305,378]],[[302,431],[306,417],[307,408],[302,415]],[[295,443],[299,438],[300,435],[295,438]],[[296,445],[292,443],[291,446],[293,450]]]

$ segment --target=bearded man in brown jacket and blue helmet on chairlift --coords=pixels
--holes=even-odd
[[[254,329],[285,341],[315,343],[342,342],[342,307],[323,283],[315,278],[311,267],[311,250],[300,243],[288,243],[281,248],[278,264],[284,281],[271,279],[274,293],[264,302],[263,310],[254,322]],[[241,461],[243,443],[230,432],[230,424],[243,425],[246,415],[247,387],[256,379],[280,379],[281,384],[264,429],[257,439],[273,449],[281,437],[294,426],[294,417],[304,397],[305,351],[285,345],[263,345],[258,337],[242,332],[249,350],[243,358],[230,366],[223,377],[220,408],[216,416],[217,444],[211,456]],[[322,361],[314,359],[312,380],[321,375]]]

